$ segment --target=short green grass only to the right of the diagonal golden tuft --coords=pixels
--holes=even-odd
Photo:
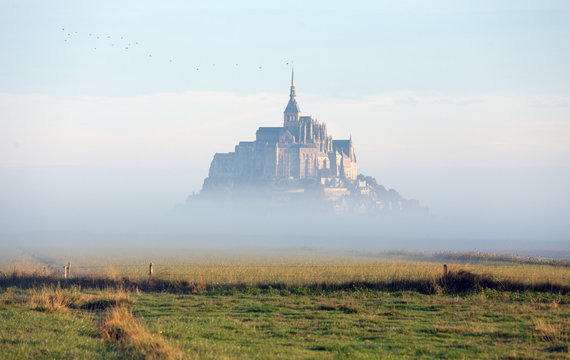
[[[484,292],[465,297],[378,291],[144,294],[135,314],[188,356],[201,358],[568,356],[568,334],[545,341],[535,330],[539,319],[567,326],[568,297],[537,300],[521,301],[516,294],[489,298]]]

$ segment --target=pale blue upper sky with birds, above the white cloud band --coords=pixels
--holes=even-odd
[[[275,3],[2,0],[0,91],[570,92],[568,1]]]

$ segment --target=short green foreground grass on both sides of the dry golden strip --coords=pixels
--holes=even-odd
[[[9,288],[2,295],[1,358],[120,358],[98,338],[96,313],[47,313],[14,300],[30,291]],[[492,290],[463,296],[376,290],[298,295],[240,288],[227,295],[130,296],[135,318],[186,358],[569,356],[569,295]]]

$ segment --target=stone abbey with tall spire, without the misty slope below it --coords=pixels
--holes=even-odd
[[[205,185],[302,179],[314,179],[326,185],[338,178],[356,180],[352,138],[333,140],[324,123],[301,115],[295,96],[294,72],[283,117],[283,126],[260,127],[255,141],[242,141],[234,152],[215,154]]]

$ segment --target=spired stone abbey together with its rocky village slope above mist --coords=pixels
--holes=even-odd
[[[386,190],[369,176],[359,175],[352,138],[333,140],[327,127],[302,116],[291,75],[283,126],[260,127],[255,141],[242,141],[235,151],[217,153],[200,195],[277,203],[301,200],[337,214],[421,209],[395,190]],[[322,200],[319,202],[315,200]]]

